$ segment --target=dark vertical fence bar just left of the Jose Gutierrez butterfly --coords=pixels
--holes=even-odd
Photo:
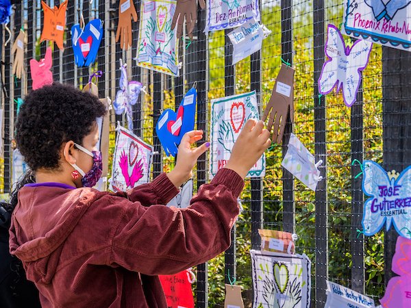
[[[362,118],[362,82],[357,92],[356,103],[351,107],[351,162],[364,159],[364,129]],[[362,181],[355,179],[361,172],[360,165],[351,167],[351,289],[364,294],[364,235],[357,238],[357,229],[361,229],[364,209]]]

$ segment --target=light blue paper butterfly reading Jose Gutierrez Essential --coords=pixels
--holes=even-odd
[[[397,179],[370,160],[364,161],[363,169],[362,190],[371,196],[364,203],[364,234],[373,235],[384,224],[388,231],[393,224],[399,235],[411,239],[411,166]]]

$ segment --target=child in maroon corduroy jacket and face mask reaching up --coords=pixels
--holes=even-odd
[[[23,261],[42,307],[166,307],[158,274],[173,274],[225,251],[248,170],[271,144],[249,120],[231,158],[187,209],[164,206],[190,178],[210,143],[186,133],[175,168],[151,183],[112,194],[90,187],[101,175],[92,94],[53,84],[27,95],[16,141],[36,183],[18,194],[10,252]]]

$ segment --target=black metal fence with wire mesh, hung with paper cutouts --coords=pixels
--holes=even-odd
[[[260,0],[261,1],[261,0]],[[46,1],[58,5],[58,1]],[[165,107],[178,106],[184,94],[197,81],[197,128],[210,136],[210,99],[256,90],[260,109],[271,96],[275,77],[282,60],[295,68],[295,120],[288,122],[283,145],[267,153],[264,179],[246,181],[241,200],[244,211],[232,231],[232,246],[225,254],[207,264],[197,266],[195,294],[198,307],[223,307],[224,282],[236,277],[243,286],[246,306],[253,296],[250,248],[260,247],[259,228],[295,232],[297,253],[306,253],[312,260],[312,307],[323,307],[325,279],[351,287],[375,300],[384,294],[385,285],[393,276],[391,259],[397,233],[380,231],[373,237],[358,233],[361,228],[364,194],[362,178],[354,159],[372,159],[386,170],[401,172],[411,164],[411,76],[410,53],[374,45],[369,66],[353,107],[344,105],[341,94],[321,96],[317,81],[325,60],[325,31],[328,23],[343,21],[342,1],[269,0],[262,1],[262,23],[272,34],[263,42],[261,51],[232,66],[232,44],[225,34],[230,30],[203,33],[205,10],[199,11],[195,40],[179,40],[182,62],[180,77],[174,78],[136,66],[138,23],[133,23],[133,44],[122,51],[115,43],[119,1],[69,0],[66,16],[64,52],[53,48],[53,78],[82,88],[95,70],[102,70],[98,80],[100,97],[114,99],[118,89],[119,60],[127,62],[129,76],[147,86],[134,106],[134,132],[154,145],[153,177],[173,166],[165,157],[154,125]],[[140,16],[140,1],[135,1]],[[29,60],[44,57],[48,42],[39,43],[42,29],[40,0],[16,1],[10,21],[11,42],[2,47],[1,70],[5,92],[1,93],[4,110],[3,191],[11,186],[12,139],[16,105],[31,90]],[[104,37],[95,66],[77,68],[74,64],[69,29],[79,22],[101,18]],[[26,73],[21,80],[12,75],[11,47],[19,29],[27,32],[25,50]],[[3,42],[8,34],[3,30]],[[351,39],[347,38],[347,42]],[[112,133],[121,116],[111,116]],[[290,132],[294,132],[322,159],[321,175],[316,192],[308,190],[281,166]],[[197,187],[208,181],[207,155],[201,156],[196,168]]]

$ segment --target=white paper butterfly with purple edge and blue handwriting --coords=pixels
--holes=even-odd
[[[334,25],[328,25],[325,54],[329,58],[323,65],[319,79],[319,92],[328,94],[336,87],[337,92],[343,88],[345,105],[351,107],[356,101],[360,87],[361,71],[369,62],[372,42],[356,40],[353,46],[346,47],[340,30]]]

